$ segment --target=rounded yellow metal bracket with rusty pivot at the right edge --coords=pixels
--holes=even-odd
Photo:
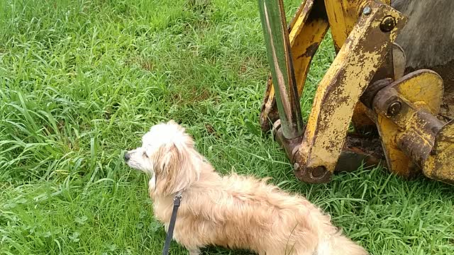
[[[421,169],[429,178],[454,183],[454,123],[435,116],[443,99],[443,80],[431,70],[418,70],[394,81],[375,98],[377,128],[389,169],[411,177]],[[399,113],[389,106],[399,102]]]

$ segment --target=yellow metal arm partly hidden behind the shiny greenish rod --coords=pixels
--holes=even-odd
[[[306,0],[301,4],[299,11],[292,20],[289,31],[289,42],[292,52],[294,74],[297,83],[297,91],[301,96],[306,82],[307,72],[312,57],[318,49],[321,41],[328,30],[328,21],[323,4],[319,1]],[[275,89],[272,79],[267,82],[265,99],[260,113],[262,127],[273,118],[273,111],[276,111]],[[275,116],[277,117],[277,116]]]

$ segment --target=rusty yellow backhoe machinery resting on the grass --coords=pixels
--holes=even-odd
[[[289,24],[282,0],[258,2],[271,67],[260,125],[297,178],[382,161],[454,184],[454,1],[305,0]],[[299,99],[328,30],[336,58],[305,123]]]

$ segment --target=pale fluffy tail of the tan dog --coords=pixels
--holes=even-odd
[[[341,233],[336,233],[317,247],[317,255],[368,255],[369,253]]]

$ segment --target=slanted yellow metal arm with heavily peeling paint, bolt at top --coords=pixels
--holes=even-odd
[[[299,148],[305,169],[322,166],[333,172],[353,109],[406,22],[401,13],[386,4],[371,1],[369,5],[370,13],[360,16],[317,89]],[[382,32],[380,24],[387,16],[394,18],[396,26]]]

